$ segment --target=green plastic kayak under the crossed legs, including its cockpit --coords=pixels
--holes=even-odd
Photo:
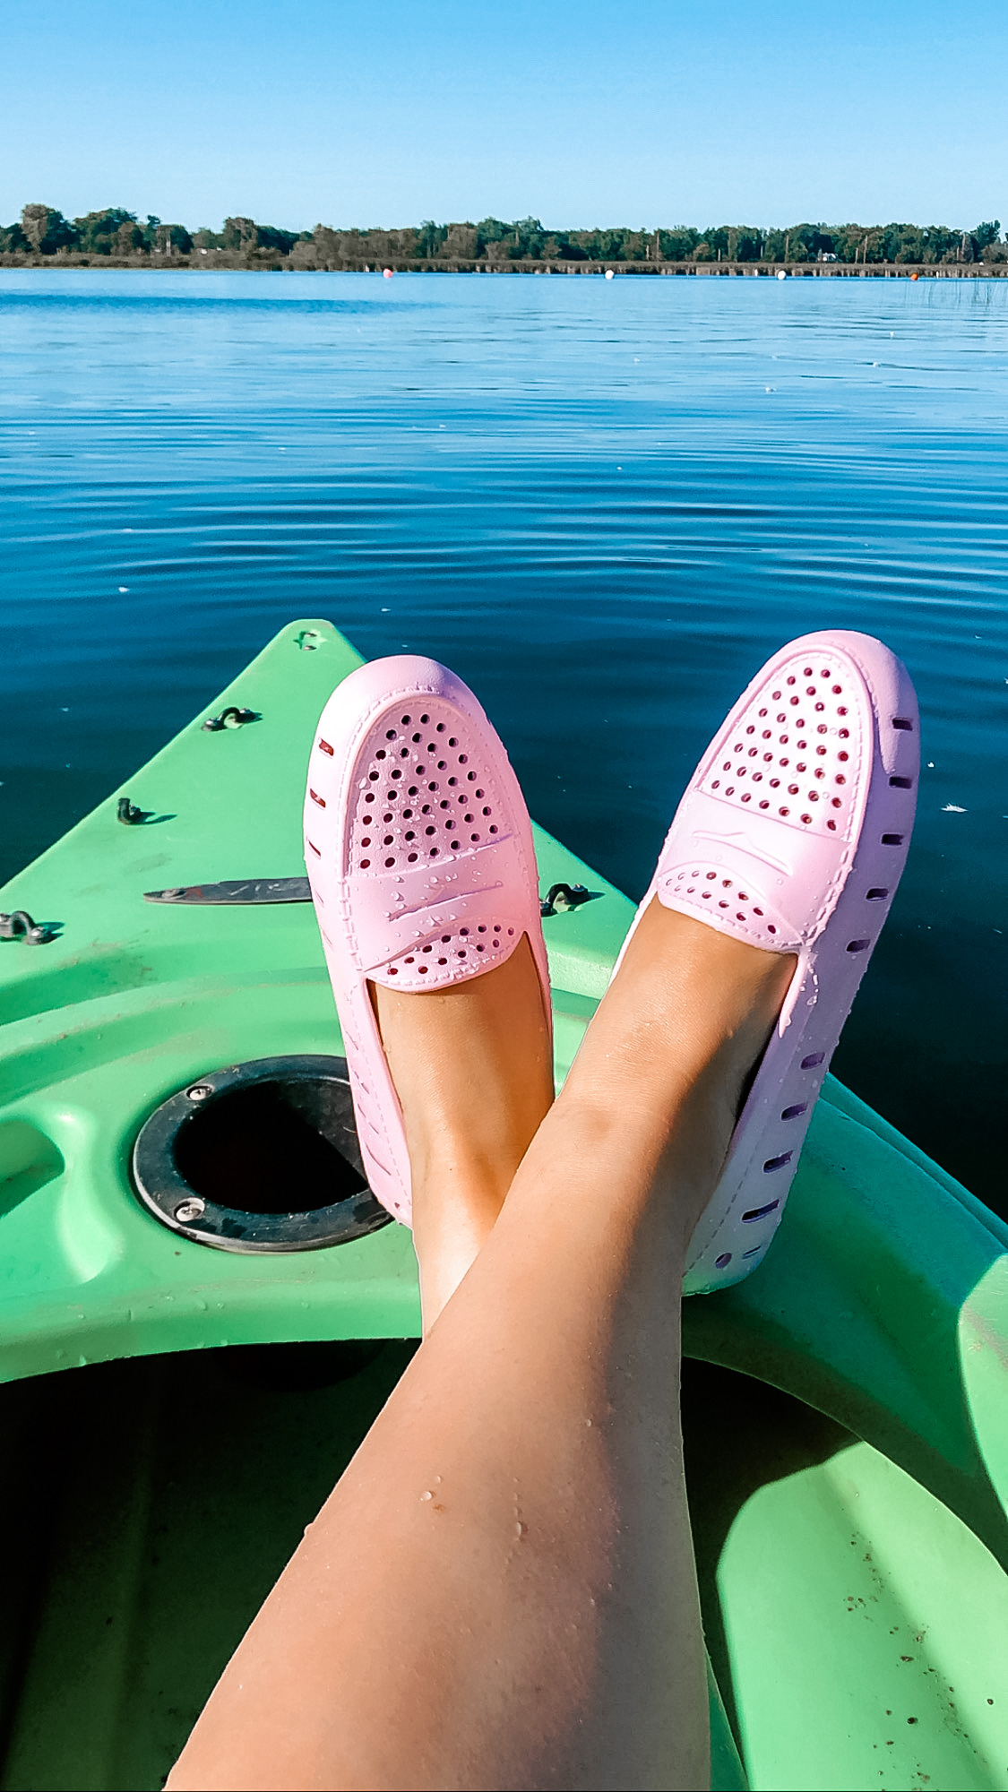
[[[2,1787],[163,1783],[416,1348],[300,883],[355,665],[282,629],[0,892]],[[633,907],[536,853],[563,1079]],[[683,1330],[714,1787],[1008,1787],[1008,1228],[830,1079]]]

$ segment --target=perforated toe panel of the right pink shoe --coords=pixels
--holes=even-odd
[[[703,788],[812,833],[845,831],[865,724],[857,679],[791,661],[737,717]]]

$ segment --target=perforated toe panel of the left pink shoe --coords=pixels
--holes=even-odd
[[[443,866],[509,831],[468,720],[438,699],[371,729],[355,785],[352,871]]]

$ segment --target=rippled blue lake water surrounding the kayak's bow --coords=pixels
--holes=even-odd
[[[1006,446],[1001,283],[0,272],[0,876],[314,615],[637,896],[764,656],[866,629],[925,771],[834,1068],[1004,1210]]]

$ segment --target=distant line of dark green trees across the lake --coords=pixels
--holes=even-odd
[[[255,219],[224,219],[221,231],[187,229],[109,206],[66,219],[54,206],[25,206],[18,224],[0,228],[4,256],[143,258],[226,256],[244,265],[332,267],[339,263],[454,262],[1004,262],[1001,222],[952,229],[947,224],[791,224],[762,229],[755,224],[717,224],[694,229],[547,229],[538,219],[482,219],[479,224],[436,224],[427,219],[405,229],[278,229]]]

